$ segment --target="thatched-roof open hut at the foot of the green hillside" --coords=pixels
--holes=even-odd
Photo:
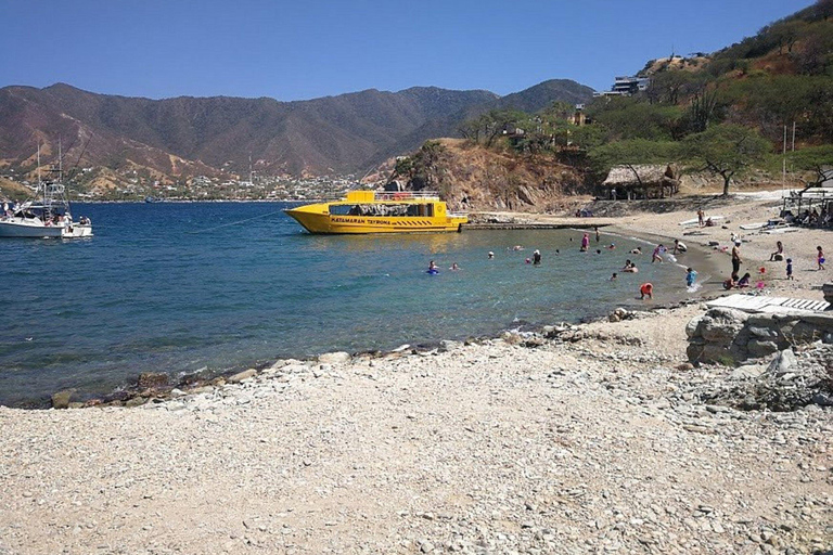
[[[603,198],[665,198],[680,189],[676,168],[666,165],[615,166],[601,184]]]

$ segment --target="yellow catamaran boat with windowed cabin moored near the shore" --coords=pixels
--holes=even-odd
[[[349,191],[339,201],[284,210],[310,233],[460,231],[469,218],[446,209],[434,192]]]

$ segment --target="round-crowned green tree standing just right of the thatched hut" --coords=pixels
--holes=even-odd
[[[753,129],[733,124],[714,126],[682,142],[683,156],[700,171],[723,178],[723,196],[732,178],[762,162],[772,145]]]

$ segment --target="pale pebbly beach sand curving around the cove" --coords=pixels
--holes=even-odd
[[[730,229],[703,235],[677,225],[691,214],[617,227],[728,245],[760,204],[721,209]],[[742,270],[821,298],[830,270],[811,268],[830,236],[746,234]],[[778,238],[794,282],[764,261]],[[0,408],[0,554],[833,548],[833,411],[704,404],[731,369],[687,364],[703,311],[584,324],[575,341],[279,361],[134,409]]]

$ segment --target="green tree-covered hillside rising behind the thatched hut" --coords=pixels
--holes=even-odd
[[[638,75],[650,79],[645,90],[593,99],[580,127],[571,106],[553,104],[492,111],[461,133],[520,156],[555,156],[590,185],[612,166],[658,163],[712,172],[725,193],[753,171],[780,182],[785,127],[792,176],[812,181],[833,166],[833,0],[712,54],[653,60]]]

